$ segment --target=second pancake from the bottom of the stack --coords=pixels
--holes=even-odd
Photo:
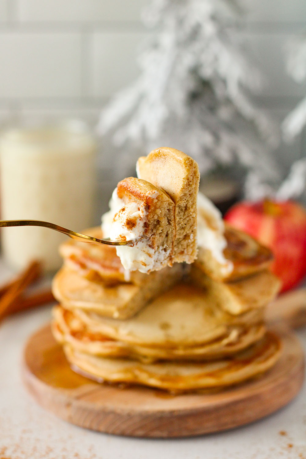
[[[56,306],[53,308],[52,332],[61,344],[73,349],[103,357],[135,358],[152,363],[156,360],[206,360],[233,355],[254,342],[265,333],[262,324],[247,329],[235,327],[226,336],[206,345],[195,347],[145,347],[112,340],[100,333],[93,333],[72,311]]]

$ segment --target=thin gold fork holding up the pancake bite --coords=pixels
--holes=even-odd
[[[83,242],[94,242],[96,244],[107,244],[108,246],[125,246],[131,241],[110,241],[109,237],[105,239],[98,239],[93,236],[88,236],[82,233],[76,233],[71,229],[63,228],[62,226],[54,223],[42,222],[40,220],[0,220],[0,228],[8,226],[45,226],[45,228],[54,229],[60,233],[64,233],[72,239],[81,239]]]

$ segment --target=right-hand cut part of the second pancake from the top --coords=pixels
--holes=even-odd
[[[193,264],[189,276],[195,285],[206,289],[211,301],[231,314],[266,306],[281,286],[280,280],[270,271],[261,271],[235,282],[221,282],[211,279]]]

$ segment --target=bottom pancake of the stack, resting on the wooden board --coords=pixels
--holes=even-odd
[[[260,341],[233,358],[212,362],[158,362],[104,358],[64,345],[72,369],[99,382],[122,382],[158,387],[168,391],[222,388],[267,371],[281,352],[281,342],[268,332]]]

